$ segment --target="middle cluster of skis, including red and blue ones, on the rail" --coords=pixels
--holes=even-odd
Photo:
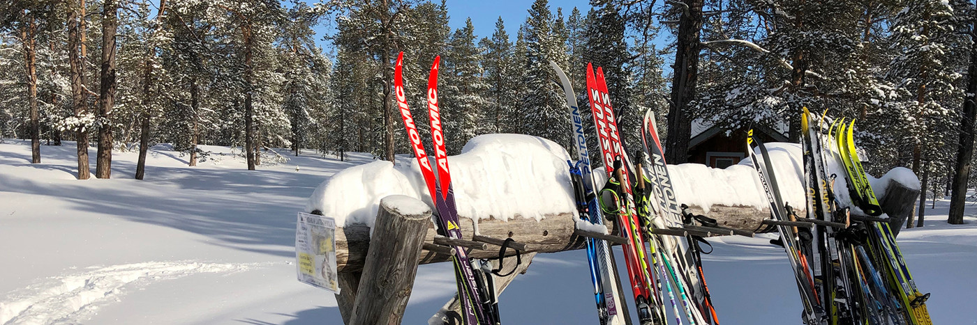
[[[645,115],[643,151],[637,152],[638,161],[632,162],[617,131],[603,69],[598,67],[595,74],[587,64],[587,96],[608,177],[607,184],[598,190],[573,87],[557,64],[550,65],[560,78],[571,113],[577,161],[568,163],[579,217],[597,225],[604,224],[605,215],[614,217],[616,234],[626,239],[621,247],[638,319],[642,324],[668,324],[667,294],[675,324],[684,324],[683,318],[689,324],[718,324],[702,277],[699,242],[704,240],[700,232],[683,228],[683,220],[691,222],[693,218],[687,218],[675,200],[654,113],[649,110]],[[602,197],[611,203],[602,203]],[[613,252],[605,240],[587,238],[586,244],[600,323],[630,324]]]

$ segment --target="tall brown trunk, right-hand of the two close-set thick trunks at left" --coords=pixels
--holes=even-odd
[[[115,28],[118,4],[105,0],[102,4],[102,71],[99,89],[99,152],[95,177],[110,178],[112,164],[112,104],[115,101]]]

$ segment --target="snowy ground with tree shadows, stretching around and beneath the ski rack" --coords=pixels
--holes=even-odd
[[[78,181],[72,142],[42,146],[39,164],[29,141],[0,143],[0,324],[341,324],[331,294],[295,280],[295,212],[323,179],[371,158],[309,153],[247,171],[228,148],[201,149],[208,160],[189,167],[152,148],[146,181],[132,179],[136,152],[116,151],[112,179]],[[926,227],[899,242],[934,323],[977,324],[977,206],[951,227],[948,205],[927,206]],[[769,238],[712,240],[704,272],[721,323],[800,324],[786,254]],[[421,266],[404,324],[426,323],[454,289],[449,264]],[[592,290],[583,251],[539,255],[502,294],[502,320],[593,324]]]

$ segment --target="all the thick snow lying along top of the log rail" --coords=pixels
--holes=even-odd
[[[796,143],[768,143],[781,198],[803,209],[803,157]],[[338,225],[372,226],[380,199],[404,195],[431,203],[430,195],[412,157],[397,165],[371,162],[351,167],[326,179],[306,204],[306,211],[320,210],[335,217]],[[839,175],[836,189],[844,189],[844,167],[826,156],[828,172]],[[574,210],[573,189],[563,148],[552,141],[521,134],[489,134],[469,141],[462,154],[449,157],[452,186],[458,213],[476,218],[509,218],[515,215],[540,218],[547,213]],[[763,160],[761,155],[757,159]],[[598,186],[607,180],[604,169],[594,169]],[[699,163],[668,165],[675,196],[680,203],[700,206],[705,212],[712,205],[769,207],[753,162],[716,169]],[[881,198],[889,179],[918,188],[918,179],[906,168],[895,168],[881,179],[870,176],[876,195]],[[848,204],[847,191],[836,191],[839,201]],[[583,223],[580,223],[582,226]],[[595,230],[596,231],[596,230]]]

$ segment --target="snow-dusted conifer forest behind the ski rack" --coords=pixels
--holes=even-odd
[[[155,143],[172,143],[191,165],[206,155],[200,144],[241,148],[249,169],[275,159],[266,148],[393,160],[409,153],[392,97],[394,59],[404,52],[413,109],[426,107],[428,71],[442,55],[452,154],[495,132],[569,146],[566,103],[548,61],[571,75],[581,103],[593,62],[604,68],[625,141],[638,143],[639,120],[654,109],[671,163],[686,162],[694,123],[768,126],[796,142],[800,107],[827,109],[859,121],[871,172],[913,168],[923,186],[919,215],[927,193],[952,192],[950,221],[962,222],[966,188],[975,185],[970,2],[526,5],[526,20],[499,18],[479,38],[470,21],[448,27],[444,1],[4,1],[0,138],[32,139],[33,162],[42,142],[77,141],[80,179],[90,177],[89,146],[98,147],[100,178],[110,177],[113,150],[139,150],[142,179]],[[317,36],[321,24],[334,33]],[[506,25],[518,25],[516,35]]]

